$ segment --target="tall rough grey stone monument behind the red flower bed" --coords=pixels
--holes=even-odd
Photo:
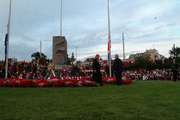
[[[61,69],[69,70],[67,66],[67,41],[64,36],[53,36],[52,62],[55,74],[60,77]]]

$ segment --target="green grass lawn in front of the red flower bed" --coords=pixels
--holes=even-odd
[[[0,87],[0,120],[179,120],[180,82],[98,87]]]

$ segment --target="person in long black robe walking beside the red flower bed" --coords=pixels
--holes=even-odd
[[[91,81],[97,81],[100,83],[101,86],[103,86],[102,74],[100,72],[99,54],[96,54],[93,60],[93,76],[91,78]]]

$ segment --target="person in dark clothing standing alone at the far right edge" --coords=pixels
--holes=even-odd
[[[176,60],[173,59],[172,72],[173,72],[173,80],[174,80],[174,82],[176,82],[177,74],[179,72],[178,67],[179,67],[179,63],[176,63]]]

